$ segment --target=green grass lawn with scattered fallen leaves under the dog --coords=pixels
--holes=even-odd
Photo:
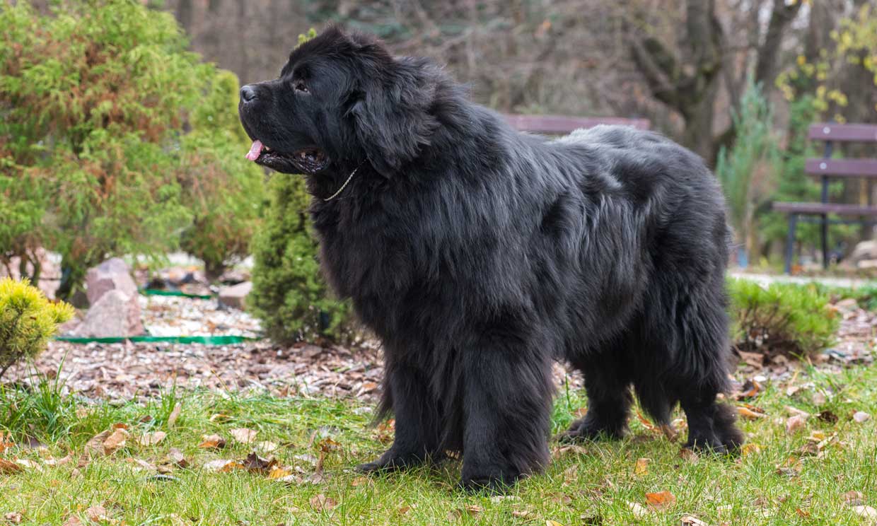
[[[456,489],[458,462],[424,467],[408,473],[363,478],[351,468],[379,454],[387,444],[380,432],[367,426],[368,406],[353,402],[305,400],[270,396],[168,393],[161,400],[114,406],[87,405],[60,394],[60,386],[46,384],[25,393],[20,388],[0,391],[0,429],[11,431],[18,443],[25,434],[46,444],[46,451],[13,447],[0,458],[24,458],[34,466],[23,473],[0,474],[0,522],[10,512],[21,512],[23,524],[63,524],[70,515],[102,505],[118,524],[679,524],[683,515],[695,515],[709,524],[868,524],[845,506],[843,494],[859,491],[867,505],[877,508],[877,430],[874,419],[855,423],[856,410],[877,415],[877,367],[859,367],[838,374],[810,371],[797,383],[812,381],[792,397],[785,386],[768,388],[752,404],[767,416],[741,422],[750,444],[761,446],[739,458],[702,455],[695,462],[680,456],[673,444],[631,419],[631,437],[624,441],[585,444],[586,451],[567,451],[554,458],[545,474],[524,480],[508,498],[468,495]],[[811,402],[816,392],[833,394],[822,407]],[[168,418],[182,407],[175,427]],[[573,419],[583,401],[561,391],[555,405],[553,431]],[[806,428],[788,436],[784,406],[811,414],[830,410],[837,423],[809,418]],[[211,416],[225,414],[225,418]],[[148,416],[148,417],[147,417]],[[151,418],[150,418],[151,417]],[[153,446],[129,439],[109,457],[96,458],[76,469],[76,461],[45,466],[49,456],[68,453],[78,458],[89,438],[126,423],[132,436],[165,430],[168,437]],[[320,441],[331,437],[340,444],[325,457],[325,480],[291,484],[263,474],[202,469],[217,458],[244,458],[250,446],[235,444],[234,428],[259,430],[257,440],[282,444],[274,452],[284,466],[301,470],[304,479],[314,472],[313,458]],[[802,456],[799,450],[814,431],[838,442],[822,456]],[[228,439],[224,450],[197,447],[203,434]],[[170,448],[182,450],[191,462],[175,468],[173,480],[157,480],[137,471],[126,458],[159,463]],[[557,444],[552,443],[556,448]],[[756,448],[757,449],[757,448]],[[634,473],[638,458],[650,458],[647,473]],[[791,458],[791,460],[789,460]],[[801,460],[801,473],[778,473],[778,466]],[[39,467],[36,467],[39,466]],[[645,506],[645,494],[668,491],[676,503],[635,518],[629,502]],[[337,505],[315,509],[318,494]],[[873,519],[872,519],[873,520]],[[109,523],[109,522],[105,522]]]

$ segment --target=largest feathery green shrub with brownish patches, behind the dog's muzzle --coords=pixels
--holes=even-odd
[[[237,79],[168,13],[51,4],[0,3],[0,258],[60,252],[67,298],[103,259],[163,255],[183,232],[209,267],[240,257],[262,175],[239,160]]]

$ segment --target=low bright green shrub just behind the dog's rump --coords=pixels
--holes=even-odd
[[[728,282],[732,339],[737,348],[768,355],[808,356],[835,341],[840,318],[816,287],[755,281]]]

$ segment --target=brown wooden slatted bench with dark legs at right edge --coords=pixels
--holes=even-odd
[[[828,225],[829,224],[874,224],[877,206],[872,206],[870,196],[867,205],[829,203],[828,185],[832,177],[858,177],[877,179],[877,159],[831,159],[836,142],[877,143],[877,125],[873,124],[813,124],[808,138],[825,141],[822,159],[808,159],[804,171],[822,181],[822,199],[819,203],[774,203],[774,210],[788,213],[788,239],[786,241],[786,274],[792,272],[792,259],[795,257],[795,227],[798,221],[809,221],[822,225],[823,267],[828,268]],[[841,217],[830,218],[829,215]],[[815,216],[815,217],[814,217]]]

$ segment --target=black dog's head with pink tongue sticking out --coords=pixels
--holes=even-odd
[[[297,46],[280,77],[240,89],[246,154],[287,174],[337,174],[369,162],[391,176],[428,145],[438,72],[396,59],[374,37],[329,27]]]

